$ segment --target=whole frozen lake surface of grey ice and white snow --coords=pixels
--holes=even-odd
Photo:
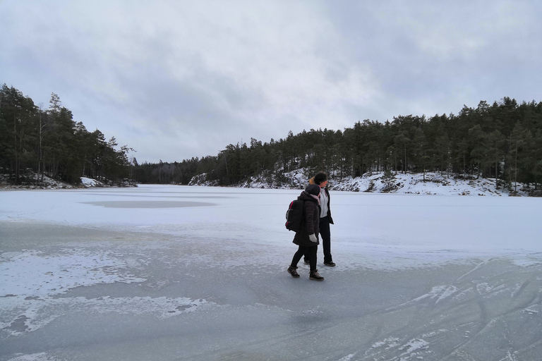
[[[299,192],[0,192],[0,360],[541,360],[540,199],[332,192],[315,282]]]

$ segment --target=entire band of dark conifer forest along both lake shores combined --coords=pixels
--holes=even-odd
[[[323,170],[335,181],[383,173],[440,173],[447,178],[493,178],[497,187],[542,185],[542,102],[502,98],[459,114],[396,116],[385,123],[364,120],[344,130],[311,129],[284,139],[227,145],[214,156],[172,163],[128,159],[114,137],[89,132],[52,94],[43,110],[4,85],[0,91],[0,167],[12,184],[43,176],[76,184],[80,177],[102,183],[210,184],[281,187],[300,170]],[[24,170],[37,180],[22,176]],[[4,176],[6,177],[6,176]]]

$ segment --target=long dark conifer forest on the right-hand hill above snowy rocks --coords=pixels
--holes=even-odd
[[[142,183],[187,184],[205,175],[218,185],[236,185],[263,176],[285,182],[284,173],[324,170],[337,178],[375,171],[446,173],[458,178],[496,178],[499,185],[542,184],[542,102],[503,98],[459,114],[397,116],[363,121],[341,130],[318,129],[286,139],[228,145],[216,156],[175,163],[141,164]]]

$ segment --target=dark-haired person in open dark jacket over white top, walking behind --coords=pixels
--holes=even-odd
[[[319,172],[313,178],[308,181],[309,184],[318,184],[320,185],[320,224],[318,228],[320,229],[320,235],[322,236],[322,247],[324,249],[324,264],[329,267],[335,267],[336,264],[333,262],[331,256],[331,232],[330,224],[333,224],[333,219],[331,218],[331,209],[330,209],[330,192],[327,190],[327,174],[324,172]],[[306,264],[309,264],[309,255],[306,252],[304,255],[304,260]]]

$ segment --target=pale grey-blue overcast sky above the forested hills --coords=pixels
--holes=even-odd
[[[0,0],[0,83],[143,161],[542,101],[542,1]]]

